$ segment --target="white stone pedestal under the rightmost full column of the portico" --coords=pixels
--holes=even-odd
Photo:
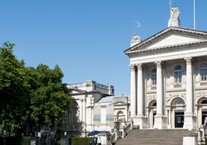
[[[192,113],[186,113],[184,116],[184,126],[185,129],[196,129],[196,116],[194,116]]]

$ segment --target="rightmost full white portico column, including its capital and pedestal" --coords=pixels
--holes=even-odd
[[[193,129],[195,125],[195,116],[193,116],[193,76],[191,57],[186,60],[186,111],[184,118],[184,128]]]

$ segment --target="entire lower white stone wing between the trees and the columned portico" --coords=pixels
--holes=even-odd
[[[129,119],[128,97],[114,97],[112,85],[85,81],[66,84],[73,98],[63,130],[69,134],[87,136],[91,131],[114,131],[114,122],[120,130]],[[81,134],[79,134],[81,133]]]

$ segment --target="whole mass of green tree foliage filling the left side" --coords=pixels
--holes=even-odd
[[[25,67],[9,42],[0,48],[0,133],[17,133],[24,126],[54,126],[62,121],[70,96],[62,87],[63,73],[56,66]]]

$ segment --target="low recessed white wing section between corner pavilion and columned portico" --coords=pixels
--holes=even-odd
[[[129,101],[128,97],[110,97],[102,99],[94,106],[94,126],[95,130],[113,132],[115,124],[119,122],[122,128],[129,121]]]

